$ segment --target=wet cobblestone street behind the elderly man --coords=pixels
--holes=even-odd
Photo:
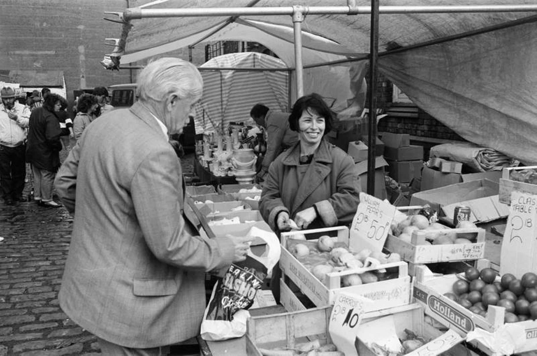
[[[192,162],[193,154],[182,159],[184,173],[193,172]],[[0,202],[0,356],[100,354],[96,338],[57,299],[71,228],[63,207]]]

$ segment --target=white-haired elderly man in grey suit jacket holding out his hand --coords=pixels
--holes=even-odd
[[[144,68],[140,99],[84,130],[56,176],[75,213],[60,306],[108,355],[157,355],[199,334],[204,272],[245,259],[250,238],[200,237],[184,214],[180,162],[168,134],[201,97],[191,64]]]

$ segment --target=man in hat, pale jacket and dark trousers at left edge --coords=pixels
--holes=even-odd
[[[21,200],[26,178],[26,128],[30,110],[15,101],[11,87],[0,90],[0,192],[5,204]]]

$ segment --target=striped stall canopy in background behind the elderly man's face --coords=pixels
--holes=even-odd
[[[229,122],[246,121],[257,103],[274,111],[287,111],[289,75],[283,61],[257,52],[229,53],[205,62],[202,68],[281,68],[281,71],[201,70],[204,89],[195,107],[196,133],[215,131]]]

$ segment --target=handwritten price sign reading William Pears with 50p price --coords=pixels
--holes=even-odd
[[[393,205],[361,192],[351,224],[349,247],[355,251],[382,251],[395,210]]]

